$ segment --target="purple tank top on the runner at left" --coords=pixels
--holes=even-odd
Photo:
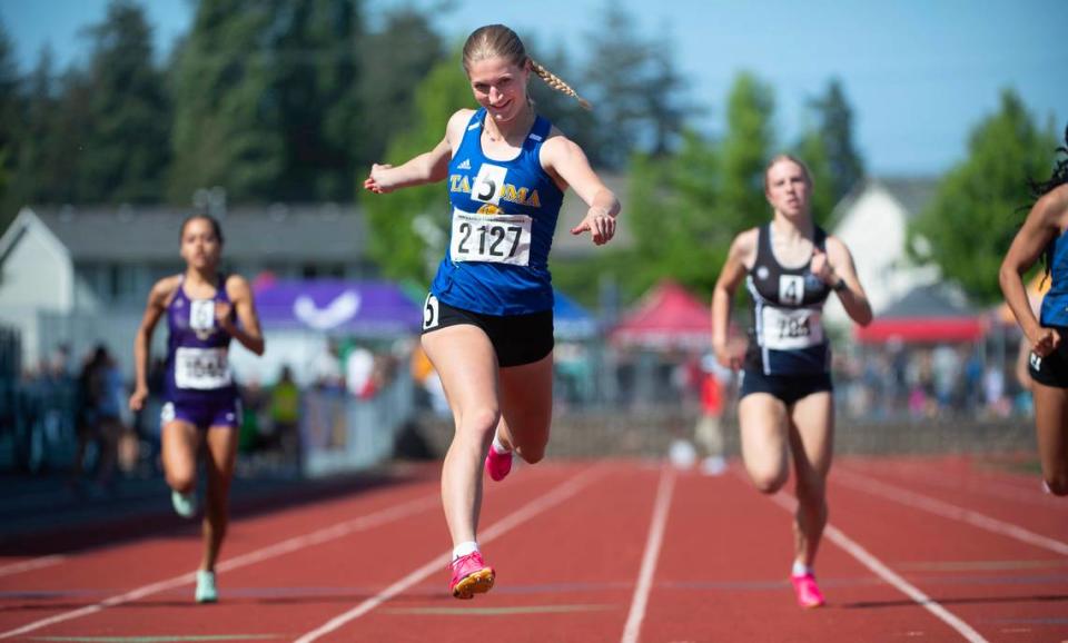
[[[215,303],[229,303],[226,277],[220,275],[215,296],[190,299],[185,275],[167,306],[167,384],[169,402],[219,402],[237,395],[230,372],[230,334],[215,319]]]

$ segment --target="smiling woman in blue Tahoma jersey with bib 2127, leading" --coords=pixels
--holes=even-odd
[[[589,206],[574,235],[602,245],[615,234],[620,204],[582,149],[534,111],[531,72],[580,100],[532,60],[514,31],[475,30],[464,69],[478,110],[452,116],[431,151],[399,167],[375,165],[373,192],[446,180],[449,247],[431,285],[423,348],[437,369],[456,425],[442,471],[442,503],[453,540],[449,591],[487,592],[494,570],[478,551],[482,468],[500,481],[513,452],[545,454],[553,402],[553,288],[548,251],[564,190]]]

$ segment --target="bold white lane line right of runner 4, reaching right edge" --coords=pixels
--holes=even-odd
[[[999,521],[986,514],[980,514],[979,512],[966,510],[965,507],[910,492],[894,485],[876,482],[853,473],[838,472],[832,479],[838,484],[870,493],[912,508],[923,510],[943,518],[960,521],[995,534],[1009,536],[1022,543],[1049,550],[1061,556],[1068,556],[1068,543],[1036,534],[1019,525]]]

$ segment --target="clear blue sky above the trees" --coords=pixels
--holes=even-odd
[[[775,92],[782,146],[803,106],[838,77],[856,113],[858,147],[877,175],[931,175],[959,162],[969,131],[1015,89],[1042,123],[1068,125],[1068,1],[1065,0],[615,0],[645,38],[674,46],[690,97],[706,108],[699,126],[716,132],[732,79],[755,73]],[[0,20],[24,68],[49,46],[60,65],[85,52],[81,28],[107,0],[0,0]],[[367,0],[372,24],[392,7],[433,10],[441,0]],[[504,22],[542,47],[582,59],[602,0],[451,0],[436,24],[457,39]],[[190,24],[189,0],[142,2],[160,51]],[[535,58],[536,51],[531,52]],[[575,82],[577,89],[581,85]]]

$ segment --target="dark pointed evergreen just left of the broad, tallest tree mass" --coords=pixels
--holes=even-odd
[[[88,128],[77,200],[158,202],[170,160],[170,102],[162,73],[152,65],[144,10],[130,0],[113,0],[89,36]]]

